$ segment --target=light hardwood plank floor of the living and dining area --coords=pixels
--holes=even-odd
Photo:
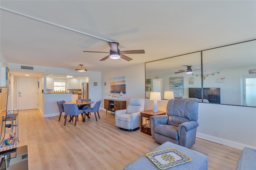
[[[122,170],[160,144],[140,132],[115,126],[114,114],[100,111],[64,126],[64,116],[43,118],[38,109],[19,111],[18,146],[28,145],[30,170]],[[193,150],[208,156],[208,170],[234,170],[241,150],[196,138]]]

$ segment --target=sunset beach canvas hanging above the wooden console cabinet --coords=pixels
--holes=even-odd
[[[110,80],[110,91],[111,93],[120,93],[122,92],[125,94],[125,77],[114,77]]]

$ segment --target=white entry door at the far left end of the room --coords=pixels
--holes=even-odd
[[[18,78],[18,109],[37,109],[37,78]]]

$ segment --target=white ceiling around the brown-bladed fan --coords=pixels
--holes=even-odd
[[[1,55],[24,65],[105,71],[256,38],[256,1],[1,0],[0,7]],[[83,52],[108,52],[108,41],[145,54],[100,61],[108,54]]]

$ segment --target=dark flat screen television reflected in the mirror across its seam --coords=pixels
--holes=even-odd
[[[188,97],[202,99],[202,88],[188,88]],[[203,88],[203,97],[209,103],[220,104],[220,88]]]

